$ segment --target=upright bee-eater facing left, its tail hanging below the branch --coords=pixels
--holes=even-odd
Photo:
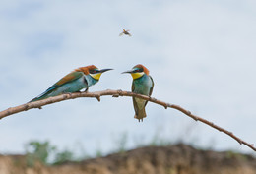
[[[126,71],[123,73],[130,73],[133,78],[132,82],[132,92],[151,96],[152,90],[154,87],[154,82],[152,77],[149,75],[149,70],[141,64],[136,65],[133,67],[132,70]],[[147,105],[148,101],[140,98],[133,97],[133,106],[135,110],[134,118],[143,121],[145,118],[145,106]]]

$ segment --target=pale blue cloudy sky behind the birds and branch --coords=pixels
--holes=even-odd
[[[254,0],[1,1],[0,109],[23,104],[91,64],[115,70],[90,91],[130,90],[132,78],[120,73],[141,63],[155,81],[154,97],[256,144],[255,9]],[[119,37],[122,29],[133,36]],[[31,140],[107,152],[123,132],[133,147],[156,130],[171,142],[251,152],[175,110],[149,103],[147,113],[138,123],[127,97],[48,105],[1,120],[0,152],[23,152]]]

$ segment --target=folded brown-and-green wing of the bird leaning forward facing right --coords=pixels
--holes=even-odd
[[[61,87],[67,83],[75,81],[75,80],[81,78],[83,75],[84,75],[84,73],[82,73],[82,72],[71,72],[68,75],[64,76],[61,80],[59,80],[53,86],[49,87],[45,92],[47,93],[49,91],[54,90],[57,87]]]

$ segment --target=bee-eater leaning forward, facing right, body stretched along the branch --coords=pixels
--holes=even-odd
[[[108,70],[112,69],[98,70],[95,65],[75,69],[73,72],[63,77],[53,86],[49,87],[39,96],[33,98],[30,102],[45,99],[63,93],[77,92],[83,88],[86,88],[85,91],[87,91],[90,86],[93,86],[98,82],[101,74]]]

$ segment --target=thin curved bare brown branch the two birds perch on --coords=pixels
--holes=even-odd
[[[62,94],[62,95],[58,95],[58,96],[54,96],[54,97],[50,97],[44,100],[39,100],[39,101],[34,101],[31,103],[26,103],[26,104],[22,104],[20,106],[16,106],[16,107],[10,107],[4,111],[0,112],[0,119],[7,117],[9,115],[15,114],[15,113],[19,113],[22,111],[27,111],[29,109],[32,108],[39,108],[41,109],[41,106],[47,105],[47,104],[52,104],[55,102],[60,102],[60,101],[64,101],[67,99],[75,99],[75,98],[79,98],[79,97],[94,97],[96,98],[98,101],[100,101],[100,96],[105,96],[105,95],[112,95],[113,97],[119,97],[119,96],[135,96],[141,99],[145,99],[151,102],[154,102],[156,104],[159,104],[161,106],[163,106],[165,109],[169,108],[173,108],[176,109],[182,113],[184,113],[185,115],[191,117],[192,119],[194,119],[195,121],[200,121],[202,123],[205,123],[206,125],[209,125],[221,132],[223,132],[224,134],[230,136],[231,138],[233,138],[234,140],[236,140],[240,145],[247,145],[248,147],[250,147],[251,149],[253,149],[254,151],[256,151],[256,148],[254,147],[253,144],[248,144],[246,142],[244,142],[243,140],[241,140],[240,138],[238,138],[237,136],[235,136],[232,132],[229,132],[227,130],[225,130],[224,128],[214,124],[213,122],[210,122],[206,119],[203,119],[201,117],[198,117],[196,115],[193,115],[189,110],[186,110],[178,105],[175,104],[169,104],[163,101],[160,101],[156,98],[153,97],[149,97],[146,95],[141,95],[141,94],[137,94],[137,93],[133,93],[130,91],[122,91],[122,90],[102,90],[102,91],[96,91],[96,92],[75,92],[75,93],[67,93],[67,94]]]

